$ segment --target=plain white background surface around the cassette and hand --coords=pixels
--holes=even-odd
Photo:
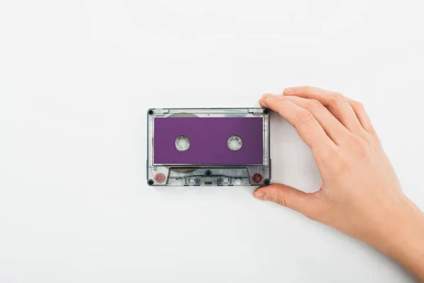
[[[254,187],[148,187],[146,110],[339,91],[423,209],[421,2],[2,0],[0,282],[413,282]],[[271,123],[273,182],[317,190]]]

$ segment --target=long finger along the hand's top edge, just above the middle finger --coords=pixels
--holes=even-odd
[[[297,88],[286,88],[284,90],[284,95],[316,99],[322,103],[322,105],[329,108],[334,117],[351,132],[360,134],[363,131],[363,127],[360,125],[355,112],[348,103],[348,99],[340,93],[326,91],[312,86],[298,86]]]

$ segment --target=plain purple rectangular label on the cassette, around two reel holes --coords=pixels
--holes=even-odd
[[[263,164],[262,117],[156,117],[155,164]],[[175,148],[175,139],[190,140],[187,151]],[[228,149],[231,136],[242,139],[237,151]]]

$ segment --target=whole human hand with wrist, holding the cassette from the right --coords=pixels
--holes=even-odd
[[[411,264],[403,263],[423,279],[423,213],[402,192],[363,105],[309,86],[286,88],[283,96],[265,94],[259,103],[290,122],[310,146],[322,186],[306,193],[273,184],[254,196],[295,209],[395,259],[404,259],[409,246]]]

